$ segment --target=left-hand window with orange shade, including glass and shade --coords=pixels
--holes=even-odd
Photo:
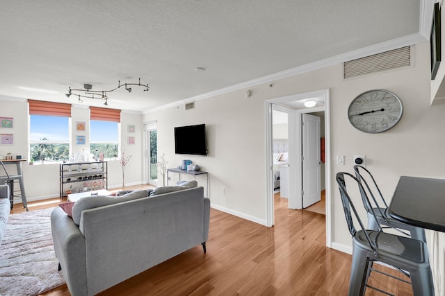
[[[29,100],[29,114],[30,158],[69,159],[71,105]]]

